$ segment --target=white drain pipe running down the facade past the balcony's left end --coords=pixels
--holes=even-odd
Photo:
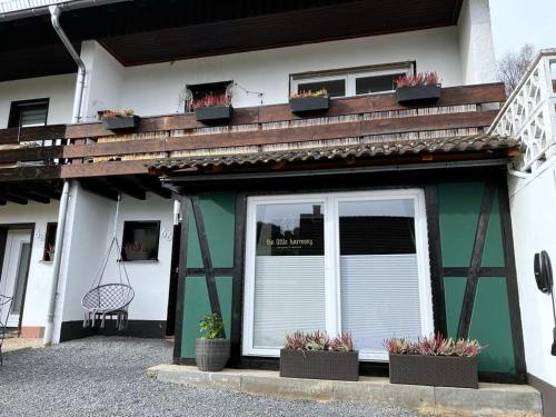
[[[78,66],[77,73],[77,85],[76,85],[76,97],[73,99],[73,112],[71,117],[72,123],[78,123],[81,118],[81,102],[83,100],[83,89],[85,89],[85,75],[86,68],[85,63],[77,53],[76,49],[71,44],[70,40],[63,32],[63,29],[60,26],[60,14],[61,9],[58,6],[51,6],[49,8],[52,27],[60,37],[60,40],[68,49],[71,58],[76,61]],[[58,228],[56,230],[56,242],[54,242],[54,259],[52,262],[52,286],[50,288],[50,302],[48,305],[48,315],[47,315],[47,326],[44,328],[44,339],[43,344],[46,346],[52,345],[53,340],[53,331],[54,331],[54,316],[56,316],[56,305],[58,301],[58,286],[60,284],[60,269],[62,261],[62,251],[63,251],[63,237],[66,232],[66,219],[68,217],[68,202],[69,202],[69,189],[70,182],[66,180],[63,182],[62,195],[60,197],[60,209],[58,211]]]

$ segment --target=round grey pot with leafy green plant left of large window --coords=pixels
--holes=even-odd
[[[196,340],[195,360],[199,370],[217,373],[230,358],[230,340],[225,339],[222,318],[207,315],[200,322],[202,336]]]

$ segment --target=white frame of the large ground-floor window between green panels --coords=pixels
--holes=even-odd
[[[257,207],[279,203],[321,203],[325,214],[325,302],[326,331],[336,335],[341,331],[341,295],[339,271],[339,222],[338,205],[342,201],[373,201],[413,199],[415,209],[415,242],[419,278],[419,307],[421,335],[434,331],[433,290],[428,251],[425,193],[421,189],[380,191],[305,193],[287,196],[249,197],[247,202],[246,271],[244,292],[242,355],[279,357],[279,349],[254,348],[255,261],[257,238]],[[317,330],[317,329],[316,329]],[[360,360],[388,361],[386,351],[359,351]]]

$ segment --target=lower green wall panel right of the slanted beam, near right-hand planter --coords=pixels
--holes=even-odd
[[[505,278],[479,278],[469,338],[486,346],[479,355],[479,370],[515,373]]]

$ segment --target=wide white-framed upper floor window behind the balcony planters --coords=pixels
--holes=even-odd
[[[396,89],[398,77],[413,73],[410,62],[291,76],[291,92],[326,89],[330,97],[371,95]]]

